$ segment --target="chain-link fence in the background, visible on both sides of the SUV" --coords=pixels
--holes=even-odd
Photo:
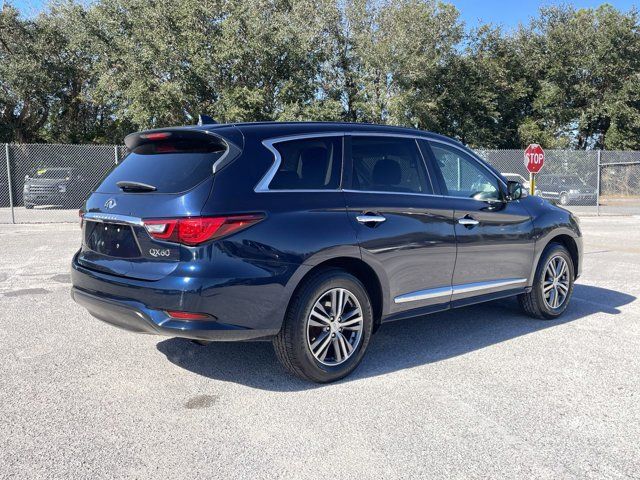
[[[76,222],[118,145],[0,145],[0,223]],[[522,150],[478,150],[530,189]],[[640,215],[640,152],[547,150],[535,194],[581,215]]]

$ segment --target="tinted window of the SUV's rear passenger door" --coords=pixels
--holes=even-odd
[[[354,190],[433,193],[422,155],[412,138],[354,136],[351,157]]]

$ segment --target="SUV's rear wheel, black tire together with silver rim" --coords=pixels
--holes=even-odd
[[[337,313],[331,299],[333,292],[338,298],[341,291],[345,300],[335,304],[345,305],[344,323],[338,319],[330,320],[331,323],[321,320],[321,317],[330,318],[331,314]],[[361,315],[354,314],[358,308]],[[312,310],[315,312],[313,318]],[[340,325],[345,325],[344,329]],[[372,330],[373,310],[362,283],[343,270],[328,269],[314,274],[298,287],[273,346],[282,365],[292,374],[312,382],[329,383],[356,369],[367,350]],[[343,341],[349,345],[341,343]],[[325,343],[326,348],[321,350]],[[349,346],[351,350],[348,350]],[[344,352],[347,354],[343,355]]]

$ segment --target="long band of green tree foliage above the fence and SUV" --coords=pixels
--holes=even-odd
[[[57,0],[0,10],[0,141],[120,143],[221,122],[344,120],[474,147],[640,148],[635,10],[466,31],[436,0]]]

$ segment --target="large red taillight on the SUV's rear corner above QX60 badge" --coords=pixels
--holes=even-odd
[[[144,220],[153,238],[185,245],[199,245],[243,230],[264,215],[230,215],[224,217],[185,217]]]

